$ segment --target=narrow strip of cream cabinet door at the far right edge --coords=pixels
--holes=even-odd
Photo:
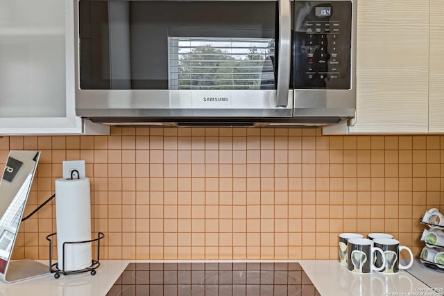
[[[444,132],[444,6],[430,0],[429,132]]]

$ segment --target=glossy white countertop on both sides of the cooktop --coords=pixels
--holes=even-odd
[[[0,282],[0,295],[104,296],[130,262],[151,261],[104,260],[101,261],[101,266],[94,276],[85,272],[77,275],[61,275],[59,279],[55,279],[53,274],[47,274],[11,284]],[[349,272],[345,266],[334,260],[296,262],[302,265],[321,295],[436,295],[429,286],[404,270],[396,275],[383,275],[379,272],[357,275]],[[433,288],[444,288],[444,273],[436,272],[436,275],[443,277],[442,285]]]

